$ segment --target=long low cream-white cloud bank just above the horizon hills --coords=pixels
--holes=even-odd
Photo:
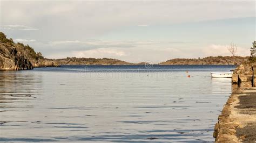
[[[86,49],[83,46],[82,48],[71,46],[72,48],[68,51],[59,51],[56,49],[56,52],[53,52],[52,50],[57,46],[54,45],[53,47],[44,50],[50,51],[46,54],[46,57],[48,58],[65,58],[66,56],[76,56],[79,58],[114,58],[133,63],[145,61],[159,63],[174,58],[204,58],[205,56],[218,55],[231,56],[226,48],[228,45],[212,44],[208,46],[191,46],[190,48],[184,48],[186,45],[177,45],[176,43],[172,44],[170,42],[153,42],[154,44],[149,43],[148,45],[136,45],[135,43],[136,42],[133,42],[132,44],[134,47],[104,47],[98,45],[91,49]],[[62,46],[64,45],[61,45],[61,47]],[[238,47],[238,55],[248,56],[250,55],[250,51],[248,48]]]

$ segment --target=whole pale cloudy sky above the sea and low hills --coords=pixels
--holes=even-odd
[[[46,58],[158,63],[250,54],[255,1],[2,1],[0,31]]]

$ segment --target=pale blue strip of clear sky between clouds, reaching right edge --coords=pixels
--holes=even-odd
[[[103,35],[104,40],[170,40],[173,42],[219,42],[234,40],[246,44],[255,39],[255,17],[127,26]],[[219,38],[221,37],[221,39]]]

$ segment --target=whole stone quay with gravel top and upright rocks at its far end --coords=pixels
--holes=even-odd
[[[240,65],[213,137],[216,142],[256,141],[256,66]]]

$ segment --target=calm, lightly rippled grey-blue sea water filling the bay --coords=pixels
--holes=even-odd
[[[62,66],[2,71],[0,141],[214,141],[214,124],[231,94],[231,79],[211,78],[210,72],[233,68]]]

